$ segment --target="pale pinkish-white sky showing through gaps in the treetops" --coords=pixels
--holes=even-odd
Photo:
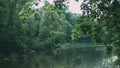
[[[47,0],[47,1],[50,4],[53,4],[54,0]],[[82,4],[82,1],[83,0],[79,0],[78,2],[76,2],[75,0],[69,0],[69,4],[68,4],[69,11],[76,14],[82,14],[82,11],[80,10],[80,5]],[[35,6],[35,8],[40,8],[42,6],[44,6],[43,0],[41,0],[41,2],[39,2],[39,5]]]

